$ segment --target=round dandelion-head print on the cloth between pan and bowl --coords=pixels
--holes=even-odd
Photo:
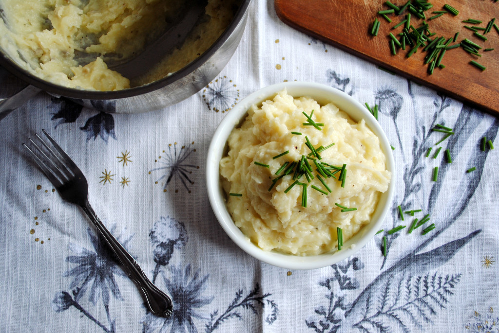
[[[203,101],[215,112],[229,111],[239,99],[239,89],[226,76],[210,82],[203,90]]]

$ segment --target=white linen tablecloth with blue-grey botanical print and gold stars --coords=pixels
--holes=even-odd
[[[397,190],[385,231],[322,269],[281,269],[250,257],[207,198],[206,154],[217,125],[251,92],[285,80],[378,104],[395,148]],[[1,93],[21,86],[7,78]],[[435,145],[436,124],[455,134]],[[499,149],[480,149],[484,136],[495,142],[498,127],[490,114],[293,30],[273,1],[255,0],[232,60],[182,103],[107,114],[41,93],[0,122],[0,331],[499,332]],[[61,200],[22,149],[42,128],[86,175],[97,215],[172,295],[171,318],[146,313],[83,212]],[[402,221],[398,205],[422,211]],[[422,227],[386,233],[426,214],[436,229],[425,235]]]

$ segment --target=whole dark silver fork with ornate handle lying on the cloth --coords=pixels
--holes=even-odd
[[[135,261],[99,220],[88,203],[88,184],[85,176],[54,139],[52,139],[44,129],[42,129],[42,132],[47,136],[58,154],[56,154],[38,134],[35,135],[43,144],[45,151],[38,147],[31,139],[29,139],[29,141],[35,147],[33,150],[36,154],[23,143],[22,145],[24,148],[32,155],[36,164],[38,164],[45,176],[47,176],[50,182],[55,186],[62,199],[80,206],[88,218],[94,223],[125,268],[125,271],[142,291],[147,308],[156,316],[171,316],[173,302],[170,296],[159,290],[149,281],[137,261]]]

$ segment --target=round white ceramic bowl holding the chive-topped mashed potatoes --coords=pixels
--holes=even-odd
[[[296,256],[274,251],[264,251],[252,243],[241,232],[236,224],[234,224],[227,210],[226,196],[222,190],[220,181],[220,159],[222,158],[229,134],[240,123],[242,118],[246,117],[251,105],[261,105],[261,102],[272,99],[277,92],[283,89],[286,89],[287,93],[293,97],[311,97],[319,102],[320,105],[332,102],[356,121],[364,118],[369,128],[379,137],[381,148],[386,155],[386,168],[392,172],[392,179],[388,190],[382,194],[371,223],[365,225],[357,234],[346,241],[340,251],[333,250],[329,253],[313,256]],[[239,247],[256,259],[274,266],[288,269],[314,269],[332,265],[351,256],[373,238],[390,211],[395,189],[394,172],[395,167],[390,143],[378,121],[363,105],[344,92],[329,86],[308,82],[284,82],[252,93],[227,113],[218,126],[208,150],[206,179],[208,197],[213,211],[224,230]]]

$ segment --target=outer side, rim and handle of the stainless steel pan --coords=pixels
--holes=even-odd
[[[25,71],[0,49],[0,65],[28,84],[19,93],[0,101],[0,120],[40,91],[71,99],[84,107],[111,113],[153,111],[183,101],[210,83],[227,65],[243,35],[250,2],[251,0],[241,1],[226,31],[192,63],[171,76],[125,90],[99,92],[58,86]]]

